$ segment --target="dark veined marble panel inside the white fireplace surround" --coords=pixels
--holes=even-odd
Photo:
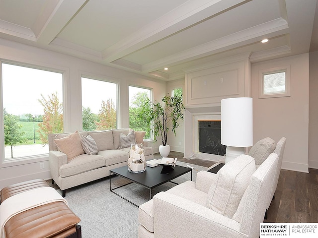
[[[225,155],[226,146],[221,144],[221,120],[199,120],[199,152]]]

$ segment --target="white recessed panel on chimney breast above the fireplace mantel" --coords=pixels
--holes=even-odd
[[[186,73],[185,106],[214,106],[221,99],[244,96],[244,61]]]

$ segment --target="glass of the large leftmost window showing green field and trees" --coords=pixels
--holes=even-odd
[[[63,132],[63,74],[1,63],[4,158],[49,153],[48,134]]]

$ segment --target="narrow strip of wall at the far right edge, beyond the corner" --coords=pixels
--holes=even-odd
[[[318,169],[318,51],[309,54],[309,145],[308,164]]]

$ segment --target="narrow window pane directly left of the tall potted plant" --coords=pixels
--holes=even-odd
[[[140,117],[140,107],[150,98],[150,93],[150,89],[129,86],[129,127],[146,131],[145,139],[151,138],[151,125]]]

